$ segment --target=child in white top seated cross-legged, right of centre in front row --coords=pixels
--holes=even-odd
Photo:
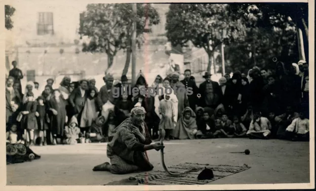
[[[260,111],[256,111],[253,113],[253,120],[250,122],[247,135],[251,139],[268,139],[271,134],[270,129],[270,121],[265,117],[261,117]]]

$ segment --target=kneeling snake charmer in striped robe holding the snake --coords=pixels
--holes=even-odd
[[[147,150],[159,151],[164,146],[151,144],[150,134],[144,122],[145,108],[134,107],[131,117],[118,127],[112,141],[107,146],[110,162],[104,162],[93,168],[93,171],[110,171],[113,174],[149,171],[154,166],[149,162]]]

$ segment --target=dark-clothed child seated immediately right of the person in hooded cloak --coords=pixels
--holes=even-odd
[[[203,112],[203,118],[197,122],[197,129],[198,139],[213,138],[213,133],[216,131],[215,122],[207,111]]]

